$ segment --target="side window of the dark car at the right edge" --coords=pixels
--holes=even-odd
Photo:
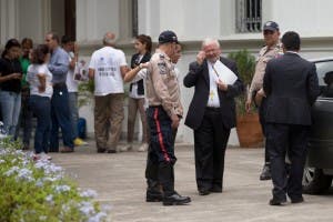
[[[315,65],[322,92],[321,95],[326,98],[333,98],[333,61],[327,60],[315,62]],[[327,83],[330,85],[327,85]]]

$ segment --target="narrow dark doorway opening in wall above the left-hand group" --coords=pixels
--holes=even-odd
[[[77,0],[63,0],[64,2],[64,34],[77,39]]]

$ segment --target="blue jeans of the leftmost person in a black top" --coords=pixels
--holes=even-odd
[[[21,110],[21,93],[0,91],[3,127],[9,135],[14,137]]]

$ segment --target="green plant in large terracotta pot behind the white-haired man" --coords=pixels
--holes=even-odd
[[[235,99],[236,101],[236,132],[241,148],[256,148],[263,142],[263,134],[259,122],[258,109],[252,105],[250,112],[246,112],[245,101],[250,88],[254,69],[255,58],[248,50],[231,52],[228,56],[236,62],[239,77],[243,81],[245,91]]]

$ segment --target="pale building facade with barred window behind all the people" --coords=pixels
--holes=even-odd
[[[41,43],[52,30],[75,38],[81,58],[89,61],[101,47],[104,32],[113,31],[117,47],[130,61],[135,34],[149,34],[157,42],[159,33],[170,29],[184,46],[179,62],[182,81],[204,38],[219,39],[223,54],[240,49],[256,54],[263,44],[262,24],[269,20],[276,21],[282,33],[300,33],[304,58],[330,57],[332,8],[331,0],[0,0],[0,44],[3,48],[9,38],[24,37]],[[186,112],[193,89],[182,87],[181,92]],[[80,109],[80,114],[88,120],[89,132],[93,132],[91,107]],[[124,131],[125,125],[127,120]],[[178,141],[193,142],[192,131],[182,124]],[[238,144],[234,132],[230,143]]]

